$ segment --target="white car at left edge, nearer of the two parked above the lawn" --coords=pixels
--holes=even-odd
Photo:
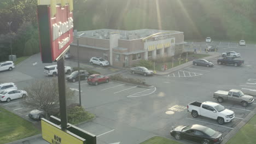
[[[10,102],[13,99],[25,97],[27,97],[27,92],[17,89],[6,89],[0,93],[0,101]]]

